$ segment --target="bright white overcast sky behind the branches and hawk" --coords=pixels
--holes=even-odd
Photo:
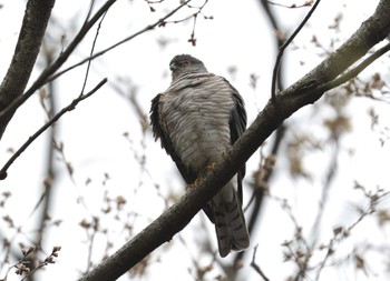
[[[50,26],[49,32],[52,38],[50,42],[60,43],[60,38],[65,32],[65,43],[68,43],[75,31],[78,30],[84,17],[87,12],[89,1],[69,1],[58,0],[53,9],[53,18],[59,23],[56,27]],[[198,1],[202,3],[202,1]],[[287,2],[287,1],[280,1]],[[289,3],[293,3],[290,1]],[[358,3],[359,2],[359,3]],[[3,77],[13,52],[13,44],[18,37],[18,29],[23,16],[23,1],[0,1],[4,7],[0,9],[0,53],[2,53],[2,63],[0,64],[0,76]],[[103,1],[97,1],[99,7]],[[125,1],[118,0],[109,10],[100,30],[96,50],[99,51],[123,38],[131,34],[146,24],[155,22],[168,10],[176,7],[178,1],[170,1],[168,4],[156,4],[155,13],[148,12],[148,6],[144,1]],[[300,2],[295,2],[300,3]],[[340,26],[339,42],[342,41],[360,27],[374,10],[378,1],[322,1],[318,11],[310,20],[308,28],[304,29],[294,46],[300,47],[299,50],[287,52],[289,58],[285,72],[285,84],[296,81],[306,71],[316,66],[321,58],[318,57],[320,50],[314,49],[310,43],[312,36],[315,33],[321,43],[328,48],[330,46],[329,34],[332,30],[329,26],[333,23],[333,19],[342,13],[343,18]],[[292,31],[303,19],[308,8],[303,9],[285,9],[281,7],[274,8],[280,16],[280,22],[286,31]],[[4,17],[12,14],[12,18]],[[183,10],[181,16],[188,14],[188,10]],[[95,60],[91,66],[91,74],[88,80],[87,91],[91,89],[103,78],[107,77],[109,83],[116,84],[124,91],[128,91],[126,83],[119,82],[118,77],[129,80],[137,87],[137,98],[143,109],[149,110],[150,100],[155,94],[165,90],[169,84],[168,62],[173,56],[177,53],[192,53],[202,59],[207,69],[212,72],[222,74],[238,89],[247,104],[250,122],[255,119],[256,113],[265,104],[270,96],[270,80],[272,67],[275,58],[274,40],[270,24],[265,16],[259,8],[256,1],[247,1],[245,4],[235,1],[216,1],[211,0],[204,10],[204,14],[213,16],[213,20],[198,19],[196,26],[196,48],[192,47],[187,39],[192,32],[192,21],[179,24],[167,24],[165,28],[158,28],[147,34],[140,36],[128,43],[110,51],[104,57]],[[181,19],[177,16],[174,19]],[[59,28],[61,27],[61,28]],[[74,30],[69,30],[70,28]],[[91,47],[91,40],[95,33],[76,50],[67,63],[67,66],[78,62],[88,56]],[[162,49],[156,39],[167,38],[172,40],[166,48]],[[389,57],[387,57],[389,58]],[[40,60],[41,61],[41,60]],[[304,61],[304,64],[300,64]],[[227,69],[236,67],[237,72],[234,77],[230,76]],[[376,68],[382,68],[387,78],[389,78],[389,64],[381,62],[369,68],[364,73],[367,77]],[[82,86],[82,78],[86,67],[81,67],[60,78],[56,83],[59,107],[64,107],[71,99],[76,98]],[[40,69],[36,69],[33,77],[37,77]],[[255,73],[260,77],[259,84],[255,90],[250,87],[250,74]],[[32,80],[31,80],[32,81]],[[38,104],[38,98],[32,97],[22,108],[18,110],[13,120],[10,122],[6,134],[0,143],[0,159],[3,163],[10,155],[8,148],[19,148],[25,140],[32,134],[46,120],[45,113]],[[326,210],[324,218],[323,233],[324,241],[331,237],[332,225],[338,223],[351,223],[355,219],[355,213],[351,208],[351,202],[362,202],[362,197],[358,191],[351,191],[353,180],[358,180],[370,188],[376,189],[377,185],[388,188],[389,180],[387,178],[389,158],[388,145],[380,147],[378,141],[379,132],[370,131],[370,120],[367,110],[374,104],[376,110],[380,113],[380,127],[384,129],[389,120],[388,104],[380,102],[371,102],[367,99],[357,99],[349,107],[350,114],[353,116],[353,132],[343,139],[342,148],[345,150],[353,149],[353,157],[348,157],[345,152],[341,153],[339,159],[340,167],[348,167],[339,171],[335,183],[332,185],[332,202]],[[324,134],[322,126],[323,116],[332,114],[324,110],[323,116],[319,114],[308,123],[308,116],[312,114],[311,108],[298,112],[298,114],[289,121],[293,124],[294,131],[310,130],[312,133]],[[142,214],[142,219],[137,219],[135,228],[142,230],[146,223],[164,210],[164,201],[158,197],[155,183],[160,185],[163,194],[167,194],[169,190],[174,190],[178,194],[182,191],[182,181],[175,177],[176,168],[170,158],[168,158],[159,148],[159,143],[155,143],[150,136],[146,139],[146,149],[143,150],[140,140],[140,128],[134,113],[134,109],[128,101],[119,97],[113,88],[106,84],[99,92],[95,93],[88,100],[81,102],[77,109],[67,113],[59,122],[60,131],[58,141],[65,143],[65,154],[75,169],[72,183],[67,175],[64,165],[59,162],[57,169],[59,171],[59,184],[56,184],[56,205],[51,213],[52,218],[64,220],[60,228],[51,228],[50,235],[45,245],[50,251],[52,245],[62,247],[57,264],[52,264],[40,274],[41,280],[56,280],[58,277],[67,274],[67,280],[75,280],[78,277],[77,270],[84,270],[86,264],[86,240],[84,231],[78,228],[81,218],[89,218],[90,214],[97,214],[101,208],[101,198],[106,189],[101,181],[104,173],[109,173],[111,180],[107,183],[110,195],[127,195],[128,203],[126,208],[128,212],[137,210]],[[133,147],[123,137],[124,132],[129,132]],[[294,133],[294,132],[292,132]],[[325,136],[323,136],[325,138]],[[361,140],[361,141],[357,141]],[[45,148],[47,138],[42,137],[37,140],[18,159],[9,170],[9,177],[6,181],[0,182],[0,192],[10,190],[12,197],[7,204],[9,212],[17,225],[22,225],[27,233],[31,233],[35,229],[35,220],[30,218],[37,198],[42,191],[42,180],[45,178]],[[143,172],[139,164],[134,158],[135,149],[137,153],[146,153],[147,171]],[[293,212],[301,223],[311,225],[314,210],[318,209],[318,200],[320,198],[321,174],[326,169],[329,161],[329,151],[318,151],[306,159],[308,168],[311,169],[314,163],[318,165],[319,178],[313,182],[298,180],[293,181],[287,178],[285,161],[281,161],[274,181],[272,182],[272,193],[275,197],[287,199],[293,205]],[[259,155],[254,155],[248,161],[247,180],[252,171],[256,169]],[[325,164],[324,164],[325,163]],[[85,185],[87,178],[92,179],[92,183]],[[246,194],[246,200],[248,192]],[[85,208],[76,202],[79,195],[86,198]],[[153,208],[152,208],[153,207]],[[130,210],[131,209],[131,210]],[[313,210],[313,211],[312,211]],[[6,210],[0,209],[3,215]],[[32,217],[35,218],[35,217]],[[123,218],[124,219],[124,218]],[[203,218],[204,219],[204,218]],[[187,241],[187,247],[192,252],[196,252],[194,245],[194,230],[199,228],[201,215],[197,215],[192,223],[182,232],[182,237]],[[103,223],[111,223],[108,219]],[[292,238],[293,225],[281,210],[281,207],[274,200],[266,200],[260,229],[252,235],[252,249],[259,243],[257,263],[264,269],[271,280],[283,280],[289,272],[292,271],[291,263],[282,261],[281,243]],[[0,223],[2,229],[3,222]],[[361,228],[374,229],[376,224],[369,220]],[[109,237],[117,241],[115,245],[120,247],[124,235],[120,231],[120,223],[117,225],[109,224]],[[309,230],[309,229],[308,229]],[[118,233],[119,232],[119,233]],[[198,232],[195,232],[198,233]],[[379,232],[371,231],[367,233],[364,229],[354,232],[355,239],[383,241],[387,237]],[[387,232],[389,234],[389,232]],[[2,233],[1,233],[2,234]],[[6,233],[11,237],[10,233]],[[364,237],[365,235],[365,237]],[[116,239],[116,237],[118,239]],[[1,237],[0,237],[1,238]],[[211,238],[214,239],[213,230]],[[23,239],[18,235],[16,241]],[[175,237],[177,239],[177,237]],[[80,242],[81,241],[81,242]],[[104,239],[101,239],[104,241]],[[215,241],[213,241],[215,245]],[[166,245],[165,245],[166,247]],[[187,272],[189,258],[183,254],[187,251],[181,242],[175,243],[173,249],[167,253],[157,250],[156,255],[160,257],[162,262],[156,262],[150,272],[150,280],[157,277],[159,280],[167,280],[172,277],[175,269],[176,280],[193,280]],[[345,245],[348,248],[348,245]],[[351,247],[351,245],[349,245]],[[100,258],[98,251],[95,252],[97,259]],[[0,255],[0,260],[1,260]],[[202,261],[207,264],[209,261]],[[2,264],[1,264],[2,265]],[[382,265],[378,265],[381,272]],[[76,269],[76,270],[75,270]],[[373,270],[377,270],[374,268]],[[217,271],[216,271],[217,272]],[[259,277],[252,269],[246,265],[245,280],[259,280]],[[341,273],[340,273],[341,272]],[[3,272],[0,273],[2,277]],[[324,272],[322,280],[347,280],[351,277],[349,268],[339,271],[340,275],[334,275],[333,271]],[[215,274],[211,274],[213,278]],[[352,274],[353,277],[353,274]],[[10,274],[9,280],[19,280]],[[121,280],[125,280],[121,279]],[[363,273],[357,273],[355,280],[368,280]],[[370,280],[387,280],[386,278]]]

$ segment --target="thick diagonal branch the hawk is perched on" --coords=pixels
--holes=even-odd
[[[234,144],[213,173],[187,192],[158,219],[126,243],[80,281],[116,280],[164,242],[169,241],[211,200],[257,150],[282,122],[300,108],[313,103],[323,94],[323,84],[362,58],[369,49],[390,33],[390,0],[381,0],[374,14],[330,58],[304,78],[276,96],[259,114],[255,122]]]

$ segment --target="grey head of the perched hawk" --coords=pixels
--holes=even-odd
[[[203,62],[189,54],[178,54],[169,62],[172,80],[177,79],[184,73],[204,73],[207,69]]]

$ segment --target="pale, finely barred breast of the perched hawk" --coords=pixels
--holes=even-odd
[[[208,80],[197,79],[186,83],[193,87],[168,89],[162,107],[176,153],[195,171],[218,161],[231,148],[231,90],[222,80]]]

